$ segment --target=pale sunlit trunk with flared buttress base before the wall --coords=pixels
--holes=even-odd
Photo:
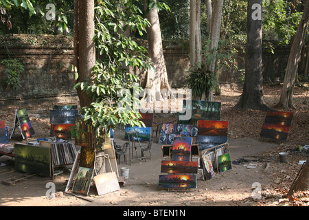
[[[146,5],[146,0],[144,3],[146,10],[148,7],[148,5]],[[162,100],[162,98],[167,99],[171,94],[161,94],[161,91],[170,91],[170,85],[168,83],[168,72],[163,56],[161,28],[156,5],[149,10],[148,14],[146,14],[146,18],[150,22],[150,27],[146,29],[148,52],[155,69],[148,69],[144,99],[146,99],[147,102],[153,102],[155,100]]]

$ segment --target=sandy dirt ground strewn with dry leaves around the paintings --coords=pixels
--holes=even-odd
[[[264,85],[264,100],[269,107],[277,109],[275,104],[279,101],[280,91],[280,85]],[[69,170],[63,168],[63,173],[56,175],[54,180],[35,175],[20,181],[16,186],[0,184],[0,206],[308,206],[308,191],[297,192],[290,198],[285,197],[301,168],[299,160],[306,160],[308,157],[308,153],[297,150],[299,145],[309,144],[308,90],[295,87],[296,109],[291,110],[294,113],[293,124],[287,141],[260,138],[266,112],[231,109],[241,94],[242,89],[225,88],[222,89],[221,96],[214,98],[222,103],[221,120],[229,121],[232,169],[218,173],[207,181],[198,180],[196,189],[179,192],[159,188],[163,157],[161,144],[158,144],[158,137],[154,134],[151,159],[146,152],[147,161],[137,160],[129,165],[122,157],[120,164],[117,164],[119,170],[122,167],[129,168],[129,177],[120,190],[98,196],[93,185],[86,199],[68,195],[63,192],[69,179]],[[49,137],[49,110],[53,104],[59,103],[25,106],[36,131],[34,138]],[[10,131],[14,124],[16,107],[20,106],[11,104],[0,107],[0,120],[5,120]],[[156,114],[154,122],[172,122],[175,119],[176,115],[172,113]],[[123,131],[117,130],[114,135],[117,144],[125,142]],[[10,143],[14,142],[25,142],[21,140],[19,131],[15,131],[10,140]],[[282,151],[288,152],[288,162],[284,164],[279,162],[278,153]],[[250,162],[255,162],[258,166],[247,168]],[[4,172],[14,168],[13,158],[2,156],[1,163],[3,166],[0,167],[0,181],[22,174],[18,171]],[[57,193],[54,199],[46,197],[49,189],[46,184],[49,182],[56,184]],[[260,188],[256,188],[257,186]],[[256,198],[254,195],[261,197]]]

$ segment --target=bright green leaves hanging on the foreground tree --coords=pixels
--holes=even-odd
[[[144,34],[149,23],[141,17],[134,2],[95,1],[93,41],[100,58],[91,76],[78,81],[75,86],[76,89],[80,87],[93,100],[82,109],[82,113],[84,120],[89,120],[94,126],[144,126],[139,122],[141,115],[136,110],[139,107],[136,94],[139,95],[141,91],[139,78],[129,72],[129,67],[147,70],[152,63],[149,63],[146,56],[146,48],[138,45],[124,32],[138,31]],[[75,76],[78,80],[78,74]]]

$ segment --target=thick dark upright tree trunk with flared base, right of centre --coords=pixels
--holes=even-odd
[[[258,5],[254,8],[253,5]],[[249,0],[244,88],[236,108],[266,111],[262,76],[262,0]]]

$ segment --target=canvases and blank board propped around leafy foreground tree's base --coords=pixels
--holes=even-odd
[[[106,132],[108,129],[100,130],[100,132],[94,133],[95,140],[98,142],[89,144],[89,146],[87,146],[87,140],[89,140],[88,137],[80,136],[82,140],[76,139],[76,144],[80,144],[81,149],[78,151],[78,155],[73,164],[65,192],[71,190],[73,193],[88,195],[93,180],[98,195],[119,190],[119,183],[115,172],[97,175],[95,159],[98,157],[104,157],[109,160],[108,155],[102,154],[102,151],[112,148],[110,133]]]

